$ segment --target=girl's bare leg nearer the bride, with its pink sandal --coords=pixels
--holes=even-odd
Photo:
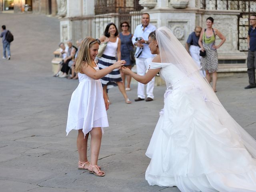
[[[91,134],[91,162],[90,165],[94,166],[98,163],[98,157],[100,153],[100,144],[101,144],[101,138],[102,138],[102,130],[100,127],[94,127],[90,131]],[[92,170],[96,173],[98,173],[98,169],[96,167],[93,167]],[[98,175],[102,175],[103,173],[99,173]]]

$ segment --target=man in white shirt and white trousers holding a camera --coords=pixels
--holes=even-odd
[[[150,68],[150,62],[152,61],[154,55],[151,54],[150,49],[148,47],[148,35],[156,30],[156,27],[149,24],[150,16],[148,13],[143,13],[141,16],[142,24],[138,25],[135,29],[135,32],[132,37],[132,43],[137,46],[136,49],[136,67],[137,74],[144,76],[146,70]],[[148,84],[146,89],[147,98],[146,101],[154,100],[154,82],[155,78],[153,78]],[[138,82],[138,98],[135,101],[145,100],[144,93],[144,84]]]

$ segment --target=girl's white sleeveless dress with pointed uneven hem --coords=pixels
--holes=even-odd
[[[99,70],[98,65],[94,67]],[[108,127],[108,117],[103,99],[100,80],[94,80],[86,74],[78,73],[79,84],[74,90],[69,108],[66,132],[82,129],[84,135],[93,127]]]

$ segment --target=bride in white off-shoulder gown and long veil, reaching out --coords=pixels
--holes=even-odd
[[[256,141],[224,109],[168,28],[152,32],[149,47],[158,55],[145,76],[122,68],[144,84],[160,72],[167,86],[146,151],[148,183],[182,192],[256,192]]]

